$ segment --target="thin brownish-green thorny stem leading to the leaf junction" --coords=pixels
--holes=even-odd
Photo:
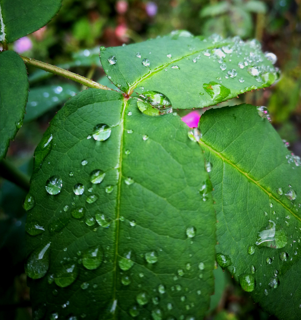
[[[48,64],[48,63],[45,63],[45,62],[42,62],[42,61],[38,61],[38,60],[35,60],[35,59],[32,59],[32,58],[28,58],[28,57],[23,57],[23,56],[20,56],[24,62],[26,64],[29,64],[31,66],[34,66],[36,68],[39,68],[39,69],[42,69],[42,70],[45,70],[45,71],[48,71],[48,72],[51,72],[51,73],[54,73],[55,75],[58,75],[58,76],[63,76],[67,79],[70,79],[70,80],[73,80],[73,81],[76,81],[80,84],[83,84],[89,88],[97,88],[97,89],[103,89],[103,90],[113,90],[113,89],[110,89],[108,87],[106,87],[105,85],[102,85],[102,84],[99,84],[98,82],[95,82],[93,80],[90,80],[90,79],[87,79],[83,76],[80,76],[80,75],[77,75],[73,72],[70,72],[68,70],[65,70],[65,69],[62,69],[62,68],[58,68],[56,66],[52,66],[51,64]]]

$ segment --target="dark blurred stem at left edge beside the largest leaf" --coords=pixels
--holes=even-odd
[[[30,178],[27,174],[21,172],[12,163],[7,160],[1,160],[0,162],[1,177],[15,183],[20,188],[24,189],[26,192],[29,191],[29,180]]]

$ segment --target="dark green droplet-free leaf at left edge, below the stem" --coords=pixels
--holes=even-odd
[[[6,155],[10,140],[22,126],[29,84],[25,64],[14,51],[1,52],[0,73],[0,159],[2,159]]]

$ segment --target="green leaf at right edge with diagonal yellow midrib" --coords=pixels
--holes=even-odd
[[[200,119],[200,145],[214,186],[216,252],[264,309],[280,319],[297,319],[300,157],[290,154],[258,111],[239,105],[206,111]]]

